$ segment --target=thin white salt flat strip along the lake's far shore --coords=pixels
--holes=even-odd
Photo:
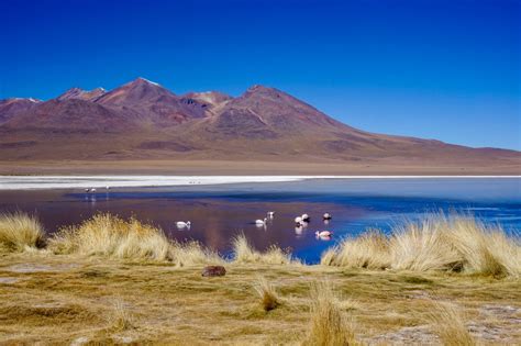
[[[0,190],[146,188],[310,179],[517,179],[521,176],[0,176]]]

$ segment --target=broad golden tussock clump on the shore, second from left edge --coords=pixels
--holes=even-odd
[[[171,246],[163,232],[135,219],[98,214],[62,228],[49,242],[56,254],[100,255],[125,259],[169,260]]]

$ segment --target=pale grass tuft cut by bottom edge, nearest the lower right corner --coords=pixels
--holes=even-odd
[[[434,312],[429,320],[433,332],[440,337],[443,345],[473,346],[476,341],[468,333],[465,321],[456,305],[444,302],[434,303]]]

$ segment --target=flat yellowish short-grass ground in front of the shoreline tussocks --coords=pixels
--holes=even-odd
[[[333,341],[348,342],[355,331],[368,344],[435,344],[425,321],[439,299],[459,306],[478,343],[521,343],[520,280],[234,263],[220,278],[201,277],[202,266],[173,269],[170,263],[2,254],[0,278],[14,280],[0,280],[0,297],[9,298],[0,300],[0,344],[311,344],[311,320],[322,330],[315,336],[341,328],[344,337]],[[259,276],[282,302],[269,313],[259,313],[259,297],[252,294]],[[323,280],[335,294],[310,293]]]

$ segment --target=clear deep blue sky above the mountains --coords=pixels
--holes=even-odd
[[[521,0],[0,1],[0,98],[260,83],[359,129],[521,149]]]

